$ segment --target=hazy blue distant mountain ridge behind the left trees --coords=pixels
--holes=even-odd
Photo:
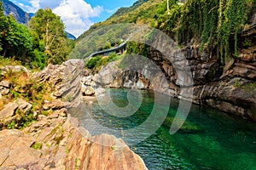
[[[15,5],[15,3],[10,2],[9,0],[0,0],[0,2],[3,2],[3,13],[5,15],[12,14],[18,23],[20,24],[28,24],[28,21],[32,18],[34,15],[33,13],[26,13],[22,8]],[[65,31],[67,33],[67,37],[69,39],[75,40],[76,37],[73,36],[73,34]]]

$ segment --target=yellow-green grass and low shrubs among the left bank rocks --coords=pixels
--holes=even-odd
[[[8,58],[1,58],[3,61],[0,65],[17,65],[20,62],[15,62],[15,60]],[[1,77],[1,80],[10,82],[11,86],[9,88],[9,94],[2,96],[0,99],[0,110],[3,109],[4,105],[9,102],[15,102],[16,99],[24,99],[25,101],[32,104],[32,110],[23,113],[20,110],[15,111],[17,120],[11,122],[7,128],[18,128],[22,129],[29,126],[32,122],[37,121],[36,117],[33,116],[34,111],[40,111],[42,114],[42,109],[44,100],[52,100],[50,92],[52,91],[52,86],[49,83],[37,82],[37,80],[32,79],[25,71],[13,72],[8,71]],[[49,115],[50,111],[45,115]]]

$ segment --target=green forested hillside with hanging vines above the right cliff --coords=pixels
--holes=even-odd
[[[201,49],[209,48],[225,65],[230,57],[237,56],[239,48],[255,45],[255,37],[246,36],[248,32],[251,34],[254,31],[248,18],[254,4],[255,0],[188,0],[185,3],[169,0],[170,11],[167,11],[167,1],[138,1],[131,8],[120,8],[108,20],[85,31],[78,39],[76,47],[80,53],[76,55],[81,58],[89,54],[87,51],[90,48],[81,47],[80,41],[93,31],[113,24],[136,23],[166,32],[181,46],[192,43],[201,45]],[[110,48],[111,44],[114,45],[112,42],[102,42],[103,39],[108,40],[108,37],[115,37],[113,33],[110,35],[106,32],[101,37],[95,37],[94,47],[102,45],[102,48]]]

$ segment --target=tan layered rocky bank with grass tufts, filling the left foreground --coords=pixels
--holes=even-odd
[[[147,169],[122,139],[91,136],[68,115],[81,101],[82,68],[81,60],[33,74],[22,66],[1,68],[0,169]],[[22,84],[15,75],[32,79]]]

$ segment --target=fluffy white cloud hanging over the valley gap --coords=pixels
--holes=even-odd
[[[84,0],[27,0],[25,3],[17,3],[26,12],[35,13],[39,8],[52,8],[53,12],[61,16],[65,23],[66,30],[75,37],[79,37],[88,30],[93,22],[92,17],[97,17],[103,12],[102,6],[92,8]]]

